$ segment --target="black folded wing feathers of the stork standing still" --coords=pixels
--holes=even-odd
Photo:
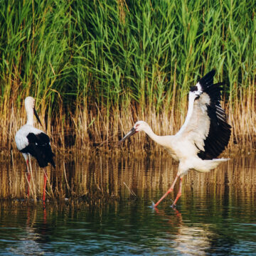
[[[48,166],[50,163],[55,168],[55,163],[53,161],[53,151],[50,147],[50,138],[45,133],[33,134],[32,132],[28,134],[28,146],[22,149],[22,153],[31,154],[38,161],[40,167]]]

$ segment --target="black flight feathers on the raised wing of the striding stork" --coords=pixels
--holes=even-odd
[[[203,92],[210,97],[210,105],[207,106],[208,117],[210,118],[210,129],[208,137],[204,140],[204,151],[201,150],[198,156],[201,159],[214,159],[221,154],[228,145],[231,134],[231,126],[227,123],[225,111],[220,106],[221,90],[223,82],[213,84],[215,70],[211,70],[198,82]]]

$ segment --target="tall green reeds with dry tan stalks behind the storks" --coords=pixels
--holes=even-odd
[[[137,119],[172,134],[186,117],[189,87],[212,68],[216,82],[226,81],[232,142],[252,145],[254,1],[6,0],[0,7],[1,149],[14,146],[28,95],[58,149],[111,145]]]

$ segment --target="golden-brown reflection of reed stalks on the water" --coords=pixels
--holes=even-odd
[[[26,166],[22,157],[17,155],[13,161],[0,163],[1,188],[0,198],[26,198],[28,182],[26,181]],[[41,198],[43,188],[43,171],[32,159],[33,193]],[[56,158],[56,169],[48,168],[48,198],[53,200],[85,199],[88,203],[98,203],[109,199],[134,198],[157,200],[166,191],[176,176],[178,164],[169,158],[146,157],[141,159],[102,156],[75,155],[72,160]],[[255,155],[230,159],[220,164],[217,169],[207,174],[188,172],[183,178],[184,198],[197,196],[207,197],[208,188],[214,189],[215,199],[224,193],[235,193],[239,200],[240,193],[247,193],[246,200],[254,201],[256,186]],[[252,189],[253,188],[253,189]],[[168,198],[174,198],[177,193]],[[212,192],[211,192],[212,193]],[[167,199],[168,203],[170,201]]]

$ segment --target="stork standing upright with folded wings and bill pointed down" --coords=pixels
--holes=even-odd
[[[35,109],[35,100],[33,97],[26,97],[25,109],[27,114],[27,122],[15,135],[16,146],[24,156],[28,171],[28,182],[30,181],[30,171],[28,166],[28,155],[30,154],[38,161],[38,165],[42,168],[50,163],[55,168],[53,161],[53,151],[50,147],[50,138],[40,129],[33,127],[33,114],[41,124],[38,114]],[[41,124],[42,125],[42,124]],[[46,171],[44,171],[43,183],[43,201],[46,199]]]

